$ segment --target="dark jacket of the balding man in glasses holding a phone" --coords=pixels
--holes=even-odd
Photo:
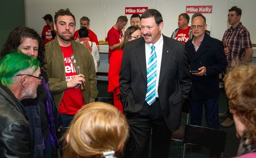
[[[206,76],[192,75],[191,99],[214,99],[219,97],[219,74],[227,67],[224,47],[220,40],[204,35],[196,52],[192,40],[187,41],[185,49],[191,70],[206,67]]]

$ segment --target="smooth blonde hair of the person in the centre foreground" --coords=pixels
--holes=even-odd
[[[129,135],[126,118],[113,105],[84,105],[65,134],[63,157],[104,157],[103,152],[121,152]]]

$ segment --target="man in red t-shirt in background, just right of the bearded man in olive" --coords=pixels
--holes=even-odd
[[[98,41],[97,35],[92,30],[89,29],[90,19],[88,17],[83,16],[83,17],[80,18],[80,28],[81,27],[86,27],[87,28],[87,30],[89,32],[90,41],[95,42],[97,48],[99,49],[99,41]],[[79,41],[79,33],[78,32],[79,32],[79,29],[76,30],[76,32],[74,34],[74,37],[72,38],[75,41]]]

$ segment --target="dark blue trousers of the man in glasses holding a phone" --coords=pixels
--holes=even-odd
[[[203,116],[203,104],[208,127],[219,129],[219,99],[191,99],[190,113],[192,125],[201,126]]]

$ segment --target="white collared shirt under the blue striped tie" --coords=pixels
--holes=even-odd
[[[145,52],[146,52],[146,69],[147,69],[147,63],[150,58],[151,53],[151,46],[152,43],[145,43]],[[158,83],[159,83],[159,76],[160,76],[160,69],[161,69],[161,61],[162,61],[162,53],[163,53],[163,36],[161,34],[161,37],[159,40],[154,44],[155,51],[157,55],[157,80],[156,80],[156,97],[158,98]]]

